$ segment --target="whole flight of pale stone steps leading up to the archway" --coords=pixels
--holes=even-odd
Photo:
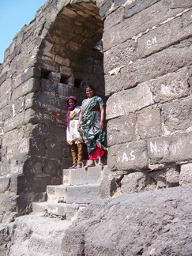
[[[32,214],[59,216],[62,220],[74,220],[81,209],[102,196],[101,184],[111,175],[107,165],[64,169],[62,185],[47,186],[47,201],[33,202]],[[103,193],[106,197],[106,191]],[[110,193],[109,197],[110,197]]]

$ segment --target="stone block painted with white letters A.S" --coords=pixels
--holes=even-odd
[[[111,170],[141,171],[148,168],[147,144],[136,141],[113,145],[108,150],[107,165]]]

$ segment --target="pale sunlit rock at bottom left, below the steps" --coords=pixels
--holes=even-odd
[[[6,253],[3,244],[5,245],[9,228],[9,235],[14,237],[13,240],[17,241],[17,245],[15,244],[12,248],[9,248],[9,254],[16,256],[21,254],[29,255],[36,252],[36,255],[62,255],[62,237],[66,229],[70,227],[70,224],[70,220],[63,221],[36,215],[21,216],[17,218],[14,224],[9,224],[9,227],[4,225],[1,228],[0,252],[2,254]]]

